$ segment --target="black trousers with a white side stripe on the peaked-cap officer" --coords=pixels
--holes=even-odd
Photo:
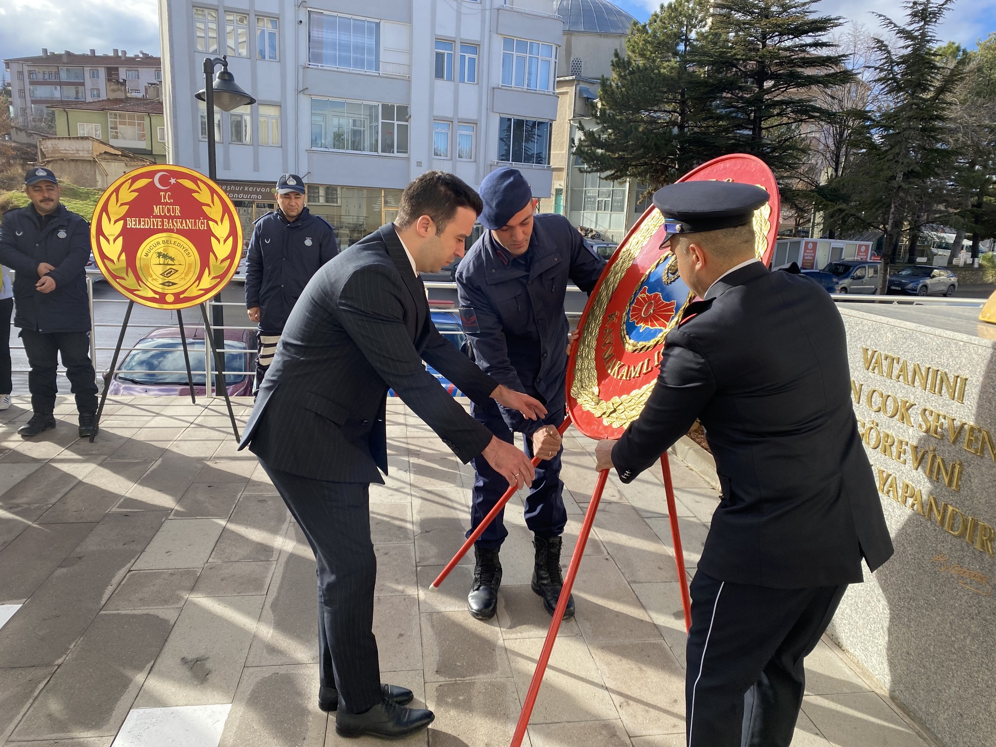
[[[685,676],[689,747],[788,747],[806,687],[803,659],[847,588],[769,589],[695,574]]]

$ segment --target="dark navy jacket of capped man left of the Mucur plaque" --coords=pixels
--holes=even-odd
[[[10,210],[0,226],[0,263],[14,270],[14,326],[34,332],[89,332],[87,262],[90,224],[65,205],[51,213],[42,227],[34,205]],[[51,293],[35,290],[38,265],[56,269]]]

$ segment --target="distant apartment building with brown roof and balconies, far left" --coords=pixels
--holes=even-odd
[[[4,60],[11,81],[11,117],[25,129],[55,132],[53,108],[96,102],[116,96],[143,99],[157,96],[162,81],[158,57],[144,52],[128,57],[124,50],[111,55],[73,52]],[[151,87],[151,88],[150,88]]]

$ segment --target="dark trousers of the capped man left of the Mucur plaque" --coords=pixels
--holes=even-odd
[[[76,394],[77,410],[97,412],[97,374],[90,361],[90,333],[21,330],[21,340],[31,367],[28,389],[35,412],[51,413],[55,409],[59,356],[66,367],[70,388]]]

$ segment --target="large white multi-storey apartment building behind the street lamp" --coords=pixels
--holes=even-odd
[[[231,4],[226,4],[230,2]],[[257,103],[216,113],[218,180],[248,223],[283,172],[343,246],[433,168],[502,164],[550,197],[564,22],[554,0],[159,0],[172,162],[207,170],[203,60]]]

